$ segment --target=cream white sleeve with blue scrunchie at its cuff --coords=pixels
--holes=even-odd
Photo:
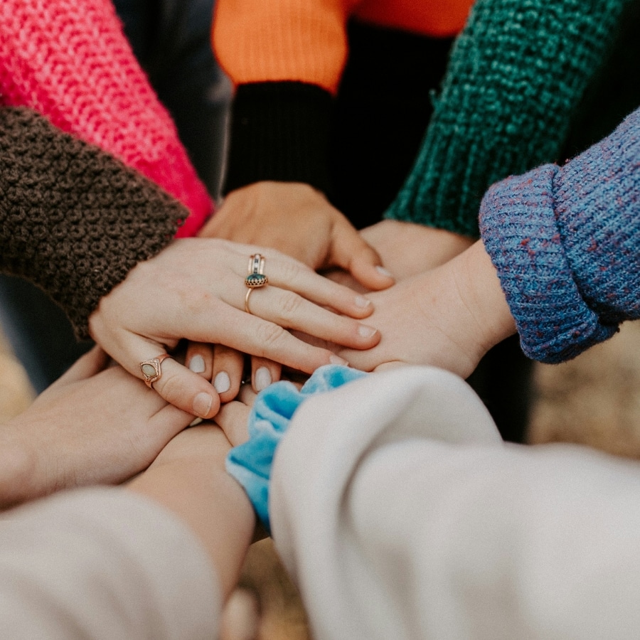
[[[640,466],[503,444],[452,374],[395,370],[305,402],[270,500],[316,640],[640,629]]]

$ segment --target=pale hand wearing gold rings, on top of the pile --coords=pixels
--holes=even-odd
[[[252,291],[252,314],[247,314],[247,263],[257,252],[266,257],[269,284]],[[89,328],[95,341],[139,378],[142,361],[171,351],[181,338],[222,344],[311,373],[336,356],[285,329],[370,348],[380,339],[378,332],[354,318],[368,316],[371,309],[365,298],[277,251],[188,238],[134,267],[102,298]],[[154,389],[162,398],[199,417],[215,415],[220,400],[205,378],[171,358],[161,370]]]

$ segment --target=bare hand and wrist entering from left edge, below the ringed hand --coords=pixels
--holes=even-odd
[[[139,473],[193,416],[94,348],[0,426],[0,505]]]

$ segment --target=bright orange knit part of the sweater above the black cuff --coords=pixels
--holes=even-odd
[[[454,36],[472,0],[216,0],[213,47],[235,85],[307,82],[335,95],[349,18]]]

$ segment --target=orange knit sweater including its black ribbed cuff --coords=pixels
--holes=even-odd
[[[226,191],[260,180],[330,190],[327,139],[347,23],[445,38],[471,0],[218,0],[213,45],[236,92]],[[388,50],[389,42],[377,42]],[[392,45],[393,48],[393,45]]]

